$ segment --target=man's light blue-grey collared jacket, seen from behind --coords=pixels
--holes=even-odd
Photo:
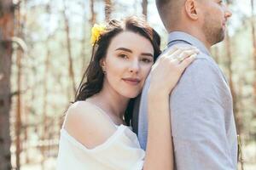
[[[168,48],[177,43],[189,43],[199,48],[201,53],[183,72],[170,96],[175,168],[236,169],[236,125],[229,85],[203,43],[189,34],[175,31],[169,35]],[[159,83],[165,83],[165,80]],[[149,84],[150,74],[137,101],[140,103],[135,105],[133,117],[133,120],[138,118],[135,129],[144,150],[148,135]]]

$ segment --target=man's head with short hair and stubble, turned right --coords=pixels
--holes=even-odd
[[[185,31],[207,47],[224,39],[231,16],[222,0],[156,0],[156,6],[168,32]]]

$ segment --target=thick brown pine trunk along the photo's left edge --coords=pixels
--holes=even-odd
[[[10,170],[9,112],[14,8],[11,0],[0,1],[0,170]]]

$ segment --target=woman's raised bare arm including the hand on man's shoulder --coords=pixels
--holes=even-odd
[[[196,53],[198,50],[191,47],[172,49],[161,56],[152,68],[148,89],[148,143],[144,170],[173,169],[169,94],[185,68],[195,59],[193,54]]]

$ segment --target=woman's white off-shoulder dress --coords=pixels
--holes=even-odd
[[[93,149],[86,148],[62,127],[57,170],[142,170],[144,156],[131,127],[116,126],[115,133]]]

